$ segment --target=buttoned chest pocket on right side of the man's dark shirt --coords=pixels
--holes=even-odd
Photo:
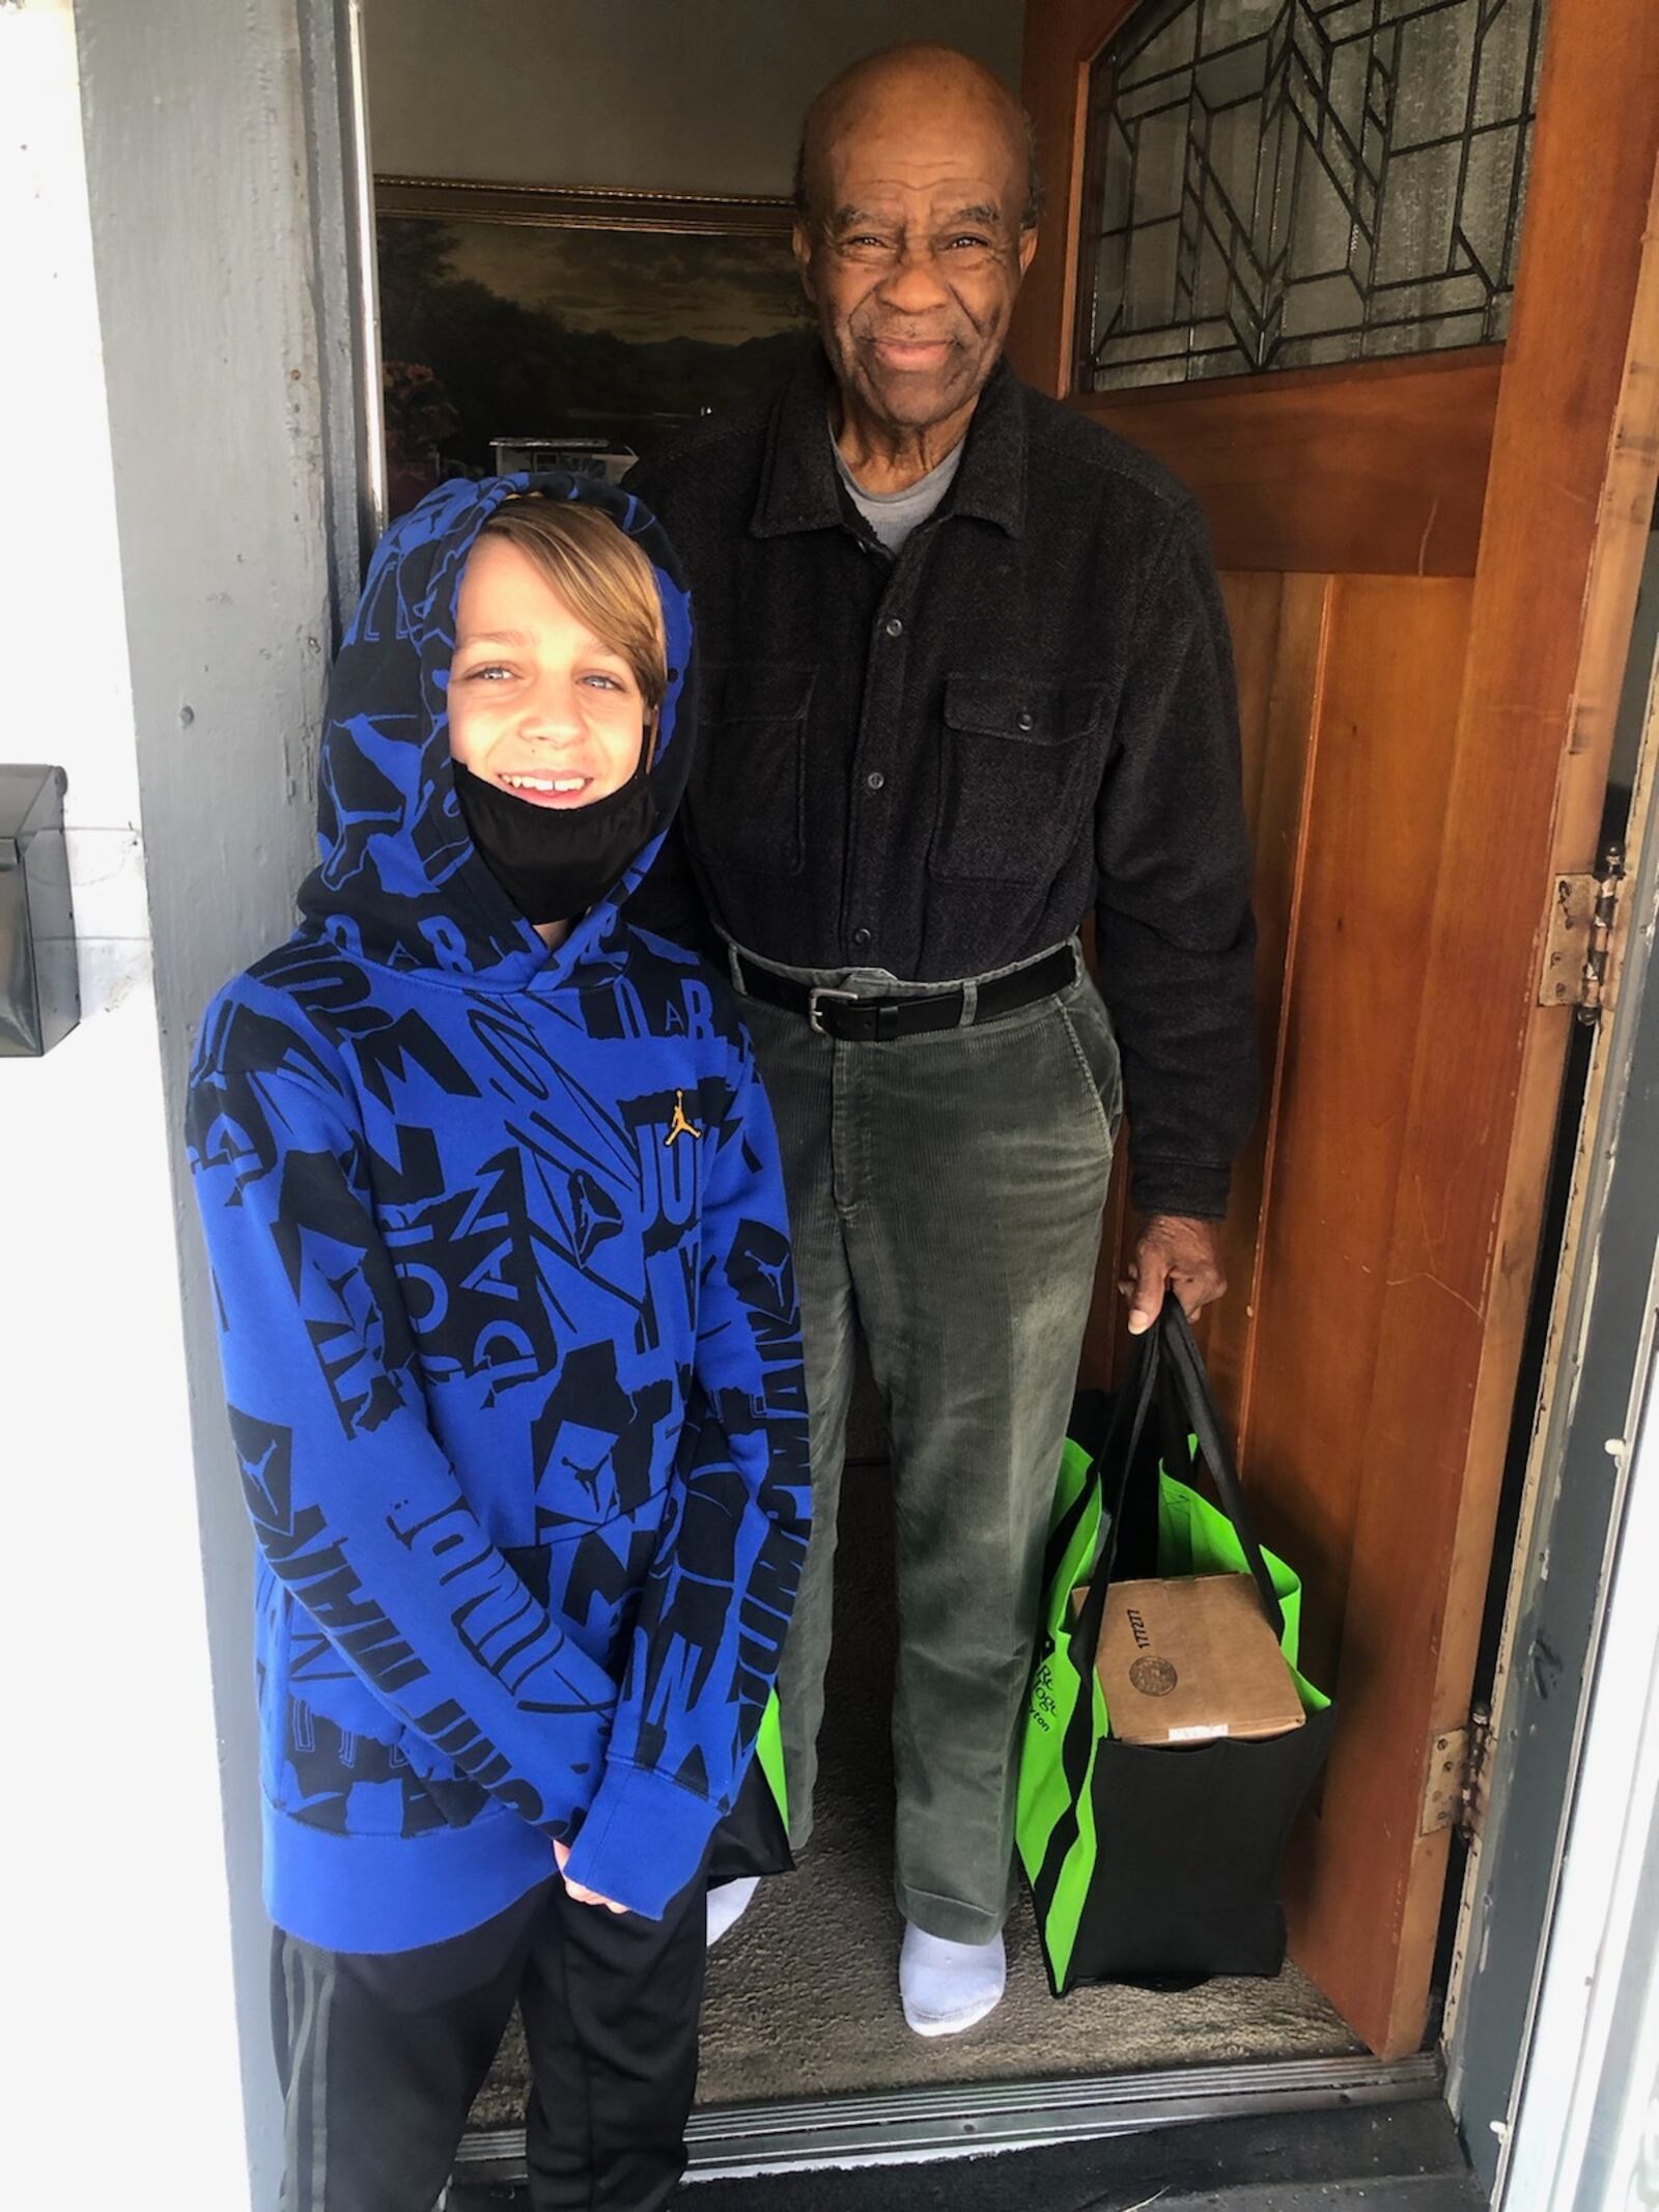
[[[947,677],[929,872],[1051,880],[1093,805],[1104,712],[1104,684]]]

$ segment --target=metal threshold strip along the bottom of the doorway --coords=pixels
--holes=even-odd
[[[1272,2112],[1413,2104],[1440,2095],[1440,2059],[1329,2057],[1250,2066],[1186,2066],[1075,2079],[971,2081],[692,2112],[688,2183],[814,2168],[900,2166],[920,2159],[1104,2141],[1155,2128]],[[524,2130],[465,2137],[458,2183],[522,2183]]]

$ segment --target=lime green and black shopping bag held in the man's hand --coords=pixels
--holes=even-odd
[[[1159,1396],[1179,1411],[1161,1455],[1141,1449]],[[1168,1471],[1194,1449],[1221,1509]],[[1141,1745],[1110,1734],[1095,1652],[1133,1520],[1152,1553],[1135,1562],[1137,1575],[1254,1577],[1303,1728],[1265,1743]],[[1084,1584],[1091,1599],[1073,1621],[1071,1595]],[[1256,1542],[1197,1343],[1170,1298],[1139,1340],[1102,1449],[1066,1442],[1048,1531],[1015,1838],[1055,1995],[1088,1980],[1279,1973],[1279,1863],[1334,1725],[1329,1699],[1296,1672],[1298,1630],[1301,1582]]]

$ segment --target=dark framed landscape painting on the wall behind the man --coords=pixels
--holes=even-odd
[[[392,513],[447,476],[622,476],[787,374],[787,199],[376,179]]]

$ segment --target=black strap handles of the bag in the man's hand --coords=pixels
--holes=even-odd
[[[1192,1336],[1192,1323],[1181,1312],[1181,1301],[1170,1294],[1164,1298],[1164,1312],[1137,1345],[1130,1387],[1119,1398],[1106,1442],[1099,1447],[1088,1469],[1088,1482],[1084,1484],[1084,1500],[1093,1491],[1097,1491],[1102,1500],[1099,1537],[1088,1577],[1088,1597],[1084,1599],[1082,1610],[1077,1613],[1077,1624],[1071,1630],[1071,1657],[1075,1659],[1077,1672],[1084,1681],[1093,1674],[1095,1657],[1099,1655],[1099,1632],[1106,1619],[1106,1586],[1110,1584],[1113,1564],[1117,1559],[1124,1495],[1135,1471],[1135,1453],[1139,1449],[1152,1400],[1161,1396],[1161,1380],[1168,1380],[1170,1398],[1186,1416],[1188,1431],[1199,1440],[1199,1458],[1214,1478],[1221,1511],[1228,1515],[1232,1531],[1239,1537],[1245,1564],[1250,1566],[1250,1575],[1256,1584],[1256,1595],[1261,1597],[1261,1610],[1267,1615],[1267,1626],[1281,1641],[1285,1635],[1285,1610],[1279,1604],[1279,1593],[1274,1590],[1272,1575],[1267,1573],[1267,1562],[1261,1555],[1256,1526],[1239,1484],[1239,1471],[1232,1462],[1232,1451],[1228,1449],[1214,1398],[1210,1396],[1210,1378],[1203,1371],[1203,1356],[1199,1354],[1197,1338]],[[1117,1451],[1119,1436],[1124,1433],[1126,1442],[1121,1451]],[[1115,1464],[1113,1453],[1117,1453]],[[1186,1436],[1181,1436],[1177,1464],[1186,1473]],[[1106,1471],[1108,1467],[1110,1473]]]

